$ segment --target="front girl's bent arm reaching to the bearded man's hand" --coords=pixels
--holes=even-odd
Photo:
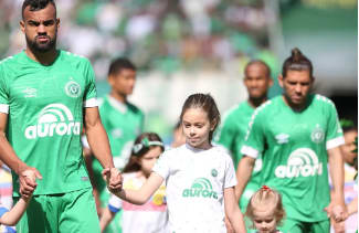
[[[155,193],[162,182],[163,178],[156,172],[152,172],[139,190],[123,189],[119,192],[113,193],[133,204],[144,204],[149,200],[149,198]]]

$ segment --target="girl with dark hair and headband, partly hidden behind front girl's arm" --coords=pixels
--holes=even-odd
[[[144,133],[135,139],[131,156],[124,168],[124,184],[128,190],[138,190],[146,182],[151,173],[151,169],[163,152],[163,144],[160,137],[154,133]],[[108,206],[105,209],[101,220],[101,231],[103,232],[115,214],[123,209],[123,233],[165,233],[167,230],[168,214],[165,202],[165,186],[144,205],[135,205],[122,201],[116,195],[112,195]]]

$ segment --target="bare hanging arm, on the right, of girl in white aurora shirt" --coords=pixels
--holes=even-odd
[[[236,233],[246,232],[244,221],[243,221],[243,215],[235,200],[234,188],[230,187],[224,189],[223,197],[224,197],[225,215],[230,220],[234,232]]]

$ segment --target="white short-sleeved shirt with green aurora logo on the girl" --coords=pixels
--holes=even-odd
[[[232,158],[221,147],[183,145],[154,167],[166,180],[169,229],[176,233],[225,233],[223,191],[236,184]]]

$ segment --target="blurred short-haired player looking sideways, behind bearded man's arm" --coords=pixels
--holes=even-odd
[[[136,66],[129,60],[118,57],[110,63],[107,77],[112,89],[109,95],[102,100],[99,115],[108,135],[115,167],[123,170],[130,157],[134,140],[144,128],[144,113],[127,99],[135,87]],[[88,167],[91,166],[87,165]],[[95,197],[99,195],[99,200],[97,198],[97,203],[99,202],[101,205],[98,212],[102,213],[102,208],[108,203],[109,192],[102,178],[102,166],[98,160],[93,161],[92,168]],[[119,218],[120,214],[117,214],[117,221],[108,225],[107,233],[120,231]]]

